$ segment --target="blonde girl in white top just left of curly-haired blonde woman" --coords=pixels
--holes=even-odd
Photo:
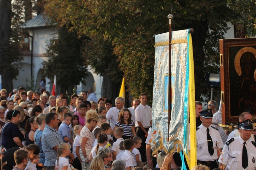
[[[77,116],[77,115],[75,115],[75,116]],[[74,136],[73,136],[74,142],[73,142],[72,153],[75,155],[73,165],[74,165],[74,168],[76,168],[76,169],[82,168],[82,165],[81,165],[82,160],[81,160],[80,154],[79,154],[79,150],[80,150],[79,140],[80,140],[80,132],[81,132],[82,128],[83,128],[83,126],[80,124],[77,124],[74,127]]]

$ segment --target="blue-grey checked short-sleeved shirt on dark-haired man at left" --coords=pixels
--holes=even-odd
[[[55,166],[55,160],[57,160],[57,152],[53,149],[58,146],[62,139],[56,129],[51,126],[45,125],[42,134],[42,148],[45,155],[44,166],[51,167]]]

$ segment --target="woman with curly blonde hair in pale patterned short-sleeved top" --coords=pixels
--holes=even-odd
[[[82,169],[89,169],[89,155],[91,149],[93,149],[93,143],[95,136],[93,134],[94,128],[97,126],[99,115],[95,110],[89,110],[86,112],[86,123],[80,132],[80,157],[82,160]]]

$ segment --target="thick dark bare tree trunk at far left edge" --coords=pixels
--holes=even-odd
[[[13,89],[12,74],[10,70],[4,69],[11,66],[6,60],[6,53],[10,50],[12,4],[11,0],[0,1],[0,74],[2,74],[2,88],[8,92]]]

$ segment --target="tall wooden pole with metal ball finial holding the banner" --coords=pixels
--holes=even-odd
[[[169,14],[168,15],[169,19],[169,84],[168,84],[168,138],[169,138],[169,129],[170,129],[170,120],[171,120],[171,78],[172,78],[172,46],[171,46],[171,41],[172,41],[172,19],[173,15]]]

